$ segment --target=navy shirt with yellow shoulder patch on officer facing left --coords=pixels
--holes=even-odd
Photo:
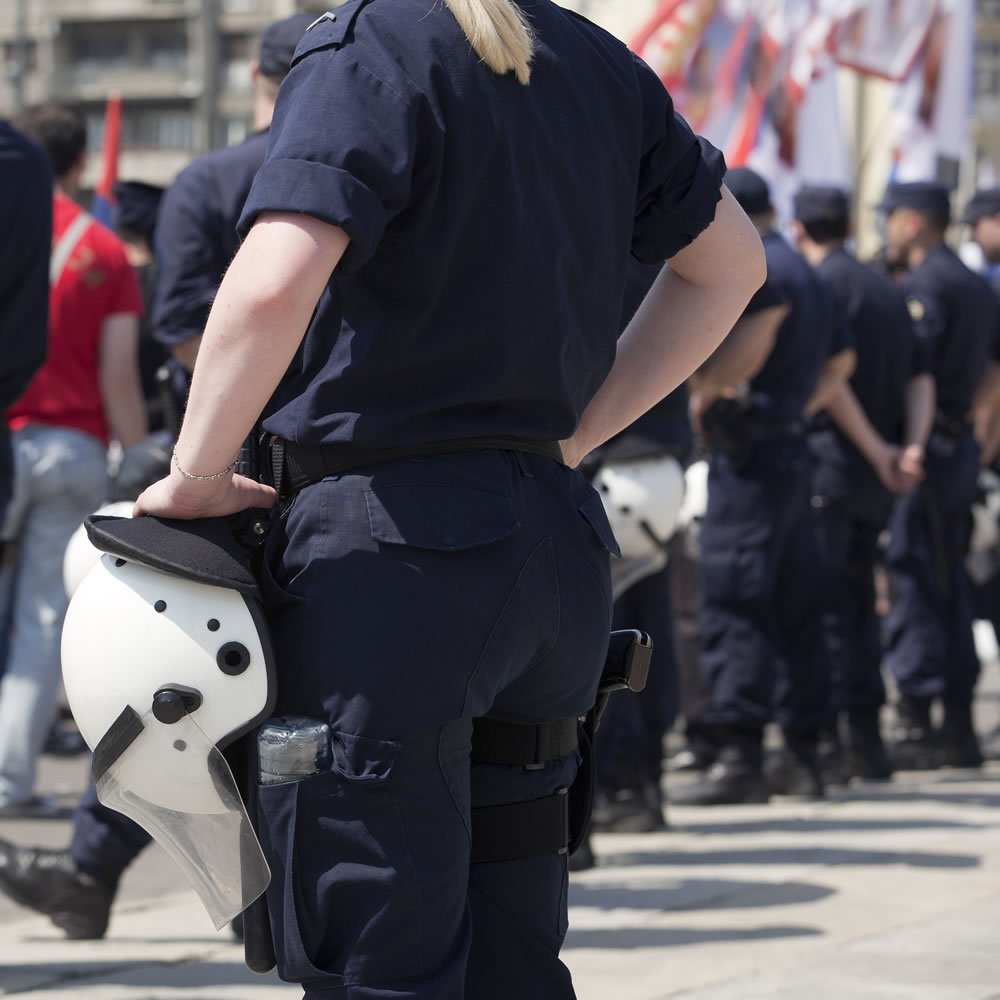
[[[903,290],[937,383],[938,410],[964,418],[993,349],[996,297],[944,243],[904,278]]]

